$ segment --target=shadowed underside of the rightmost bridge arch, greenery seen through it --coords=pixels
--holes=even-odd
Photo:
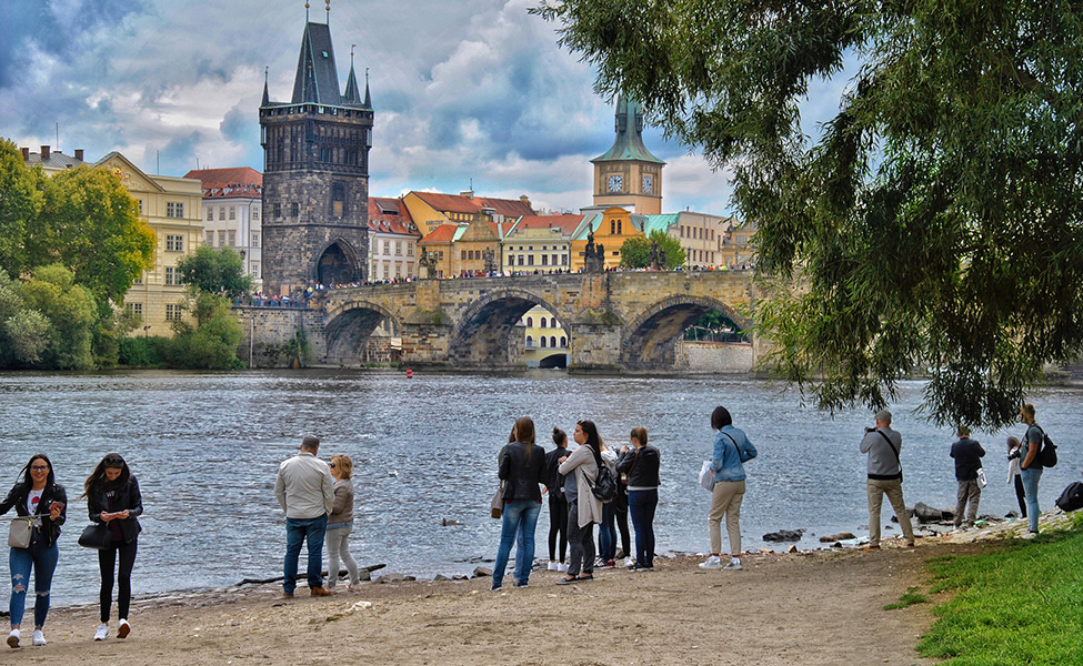
[[[629,322],[621,340],[621,364],[629,370],[671,370],[684,330],[712,310],[741,329],[751,322],[733,307],[706,296],[673,295],[650,305]]]

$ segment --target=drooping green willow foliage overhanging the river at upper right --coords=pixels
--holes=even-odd
[[[1083,349],[1079,2],[559,0],[533,11],[755,220],[761,333],[820,406],[929,373],[933,420],[1012,421]],[[810,83],[860,69],[815,140]],[[762,290],[761,290],[762,291]],[[816,380],[816,377],[820,377]]]

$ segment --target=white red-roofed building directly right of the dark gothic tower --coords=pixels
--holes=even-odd
[[[421,233],[401,199],[369,199],[369,280],[399,280],[418,274]]]

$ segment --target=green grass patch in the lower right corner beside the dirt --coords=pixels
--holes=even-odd
[[[952,666],[1083,664],[1083,512],[1073,531],[926,563],[952,599],[917,645]]]

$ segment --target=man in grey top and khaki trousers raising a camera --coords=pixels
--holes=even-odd
[[[861,440],[861,453],[869,455],[868,482],[865,490],[869,495],[869,545],[866,549],[880,549],[880,509],[884,495],[891,502],[899,517],[906,546],[914,546],[914,528],[910,522],[910,512],[902,496],[902,435],[891,430],[891,412],[876,412],[876,427],[866,427],[865,436]]]

